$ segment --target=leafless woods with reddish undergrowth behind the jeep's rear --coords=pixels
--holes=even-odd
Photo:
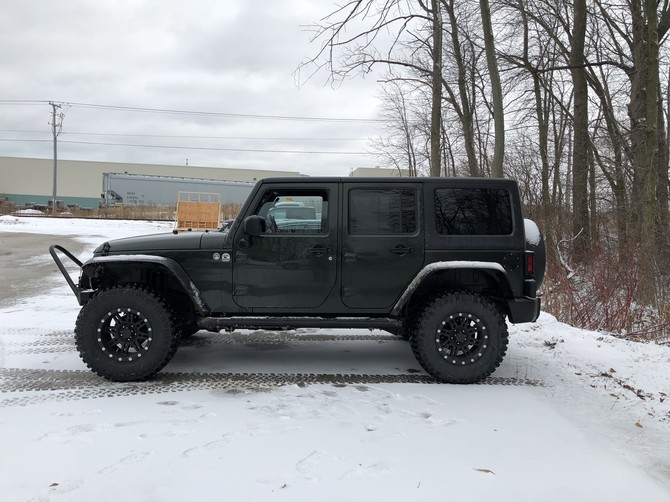
[[[301,71],[382,75],[380,166],[519,181],[550,312],[668,336],[668,0],[352,0],[309,29]]]

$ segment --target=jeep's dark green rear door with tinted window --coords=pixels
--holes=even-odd
[[[421,184],[343,187],[342,302],[390,308],[423,266]]]

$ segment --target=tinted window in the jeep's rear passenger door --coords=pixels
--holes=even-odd
[[[349,233],[412,234],[417,225],[417,195],[411,188],[355,188],[349,191]]]

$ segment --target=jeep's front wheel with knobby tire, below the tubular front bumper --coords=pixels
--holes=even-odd
[[[75,344],[84,363],[115,382],[155,375],[174,356],[180,337],[167,304],[137,286],[96,294],[75,325]]]

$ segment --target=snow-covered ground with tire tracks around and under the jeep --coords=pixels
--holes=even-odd
[[[0,237],[76,237],[84,257],[170,229],[0,217]],[[457,386],[394,383],[421,372],[382,332],[201,333],[155,381],[114,384],[74,349],[55,265],[43,280],[0,309],[3,501],[670,500],[668,347],[543,314],[511,327],[492,385]],[[336,374],[359,377],[312,383]]]

